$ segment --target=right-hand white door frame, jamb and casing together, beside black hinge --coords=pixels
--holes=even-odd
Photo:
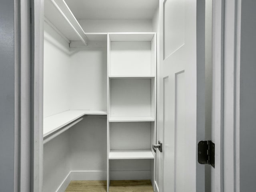
[[[212,192],[239,192],[241,0],[212,3]]]

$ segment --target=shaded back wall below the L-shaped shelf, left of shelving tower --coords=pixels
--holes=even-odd
[[[88,115],[70,129],[70,164],[72,171],[107,170],[107,120],[106,115]],[[86,179],[85,179],[86,180]],[[87,178],[87,180],[92,180]]]

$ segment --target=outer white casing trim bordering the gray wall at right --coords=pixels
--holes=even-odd
[[[224,192],[239,192],[241,0],[225,0],[224,18]]]

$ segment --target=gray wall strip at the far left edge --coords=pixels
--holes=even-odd
[[[0,2],[0,191],[14,191],[14,0]]]

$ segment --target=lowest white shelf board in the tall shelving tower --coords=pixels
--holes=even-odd
[[[144,150],[110,150],[109,159],[153,159],[150,149]]]

